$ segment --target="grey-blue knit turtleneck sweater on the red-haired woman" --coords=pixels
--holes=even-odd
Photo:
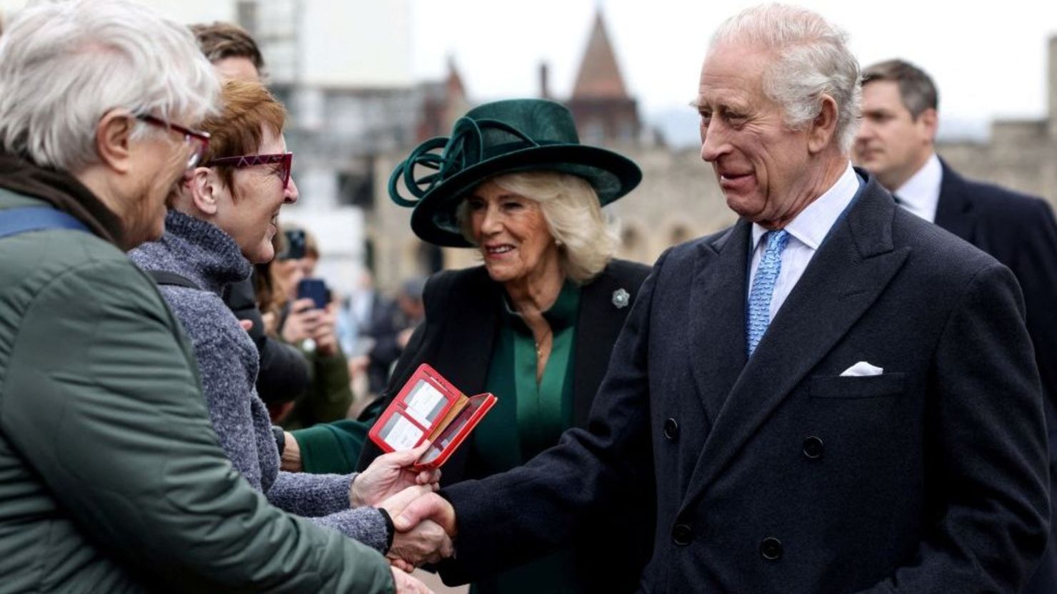
[[[279,471],[272,423],[254,387],[257,347],[220,298],[225,285],[249,276],[252,266],[235,239],[210,223],[170,211],[162,238],[129,255],[144,270],[175,272],[201,288],[160,287],[193,344],[212,426],[235,468],[272,504],[385,553],[382,514],[349,509],[355,475]]]

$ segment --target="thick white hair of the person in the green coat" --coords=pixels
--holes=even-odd
[[[0,147],[41,167],[98,162],[95,129],[115,108],[197,122],[219,101],[190,31],[127,0],[42,3],[0,36]],[[137,123],[133,138],[154,130]]]

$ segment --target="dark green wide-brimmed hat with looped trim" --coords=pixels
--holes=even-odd
[[[429,173],[416,178],[416,169]],[[587,179],[602,206],[630,192],[643,178],[631,159],[580,145],[573,114],[561,103],[509,99],[470,110],[456,122],[450,137],[431,138],[411,151],[389,177],[389,197],[414,209],[411,229],[422,239],[470,247],[456,218],[459,203],[494,175],[537,170]],[[401,180],[413,198],[400,194]]]

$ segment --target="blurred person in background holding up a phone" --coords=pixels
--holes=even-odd
[[[353,398],[349,362],[337,339],[337,304],[318,307],[312,298],[298,295],[301,281],[315,275],[319,262],[316,237],[290,225],[284,225],[283,231],[288,238],[292,233],[303,237],[304,246],[303,254],[280,257],[272,265],[276,284],[285,298],[276,331],[288,344],[297,346],[309,361],[308,388],[277,419],[284,429],[292,430],[345,419]]]

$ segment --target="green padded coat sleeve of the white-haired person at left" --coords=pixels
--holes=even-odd
[[[100,549],[187,592],[392,592],[376,552],[273,507],[227,461],[193,361],[127,262],[53,279],[8,353],[0,428]]]

